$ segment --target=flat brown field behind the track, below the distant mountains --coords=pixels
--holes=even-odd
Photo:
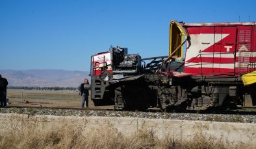
[[[22,99],[21,100],[21,91]],[[78,91],[49,91],[49,90],[21,90],[7,89],[8,106],[32,106],[45,108],[80,108],[82,98]],[[89,108],[114,108],[114,106],[94,107],[90,100]]]

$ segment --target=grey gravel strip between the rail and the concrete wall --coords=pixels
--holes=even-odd
[[[36,108],[6,108],[0,109],[0,113],[20,113],[27,115],[57,115],[76,117],[138,117],[147,119],[178,119],[201,120],[218,122],[245,122],[255,123],[256,115],[230,115],[230,114],[198,114],[198,113],[161,113],[141,111],[107,111],[91,109],[36,109]]]

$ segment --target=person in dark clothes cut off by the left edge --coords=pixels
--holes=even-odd
[[[6,89],[7,89],[8,81],[6,78],[2,78],[0,75],[0,101],[1,101],[1,108],[6,108]]]

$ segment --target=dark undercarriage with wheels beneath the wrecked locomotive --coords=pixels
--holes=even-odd
[[[190,76],[174,79],[148,74],[110,83],[101,101],[111,100],[115,109],[220,110],[242,106],[243,94],[242,84],[234,82],[196,82]]]

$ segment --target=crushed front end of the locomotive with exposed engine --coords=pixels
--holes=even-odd
[[[91,98],[95,106],[115,105],[115,109],[134,109],[145,88],[139,54],[127,48],[110,47],[108,52],[92,56]],[[146,102],[145,102],[146,103]],[[136,108],[135,108],[136,109]]]

